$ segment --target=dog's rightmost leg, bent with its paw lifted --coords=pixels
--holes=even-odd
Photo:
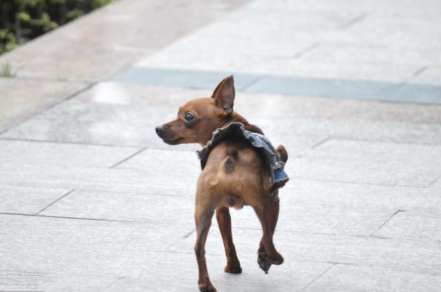
[[[268,273],[269,267],[272,264],[280,265],[283,263],[283,257],[278,254],[272,241],[274,231],[276,230],[278,212],[279,212],[279,199],[278,190],[274,193],[268,201],[265,202],[263,207],[254,210],[262,223],[263,236],[260,240],[258,249],[257,262],[260,269],[263,269],[265,273]]]

